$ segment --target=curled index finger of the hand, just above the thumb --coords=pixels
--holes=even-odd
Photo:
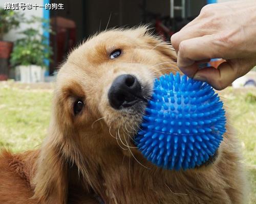
[[[180,68],[186,68],[196,61],[224,58],[225,56],[221,56],[221,54],[218,43],[215,43],[214,35],[192,38],[180,43],[177,65]]]

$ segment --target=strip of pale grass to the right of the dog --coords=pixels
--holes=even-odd
[[[242,144],[250,181],[250,204],[256,203],[256,89],[227,88],[223,96]]]

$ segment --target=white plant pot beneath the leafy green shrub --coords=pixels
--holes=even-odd
[[[45,81],[45,68],[37,65],[15,67],[16,80],[22,83],[36,83]]]

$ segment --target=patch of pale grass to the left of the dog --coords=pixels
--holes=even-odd
[[[0,84],[0,146],[22,151],[39,145],[47,134],[52,91]]]

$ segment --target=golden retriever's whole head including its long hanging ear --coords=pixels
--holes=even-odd
[[[176,72],[175,60],[172,46],[146,27],[105,31],[74,49],[58,72],[50,134],[39,161],[45,165],[35,177],[36,193],[47,191],[46,182],[63,187],[56,188],[55,195],[66,193],[61,178],[68,164],[63,161],[75,163],[93,180],[86,175],[86,160],[104,162],[102,155],[131,146],[154,79]],[[52,175],[46,173],[49,169]],[[46,194],[48,198],[41,199],[49,200],[50,192]]]

